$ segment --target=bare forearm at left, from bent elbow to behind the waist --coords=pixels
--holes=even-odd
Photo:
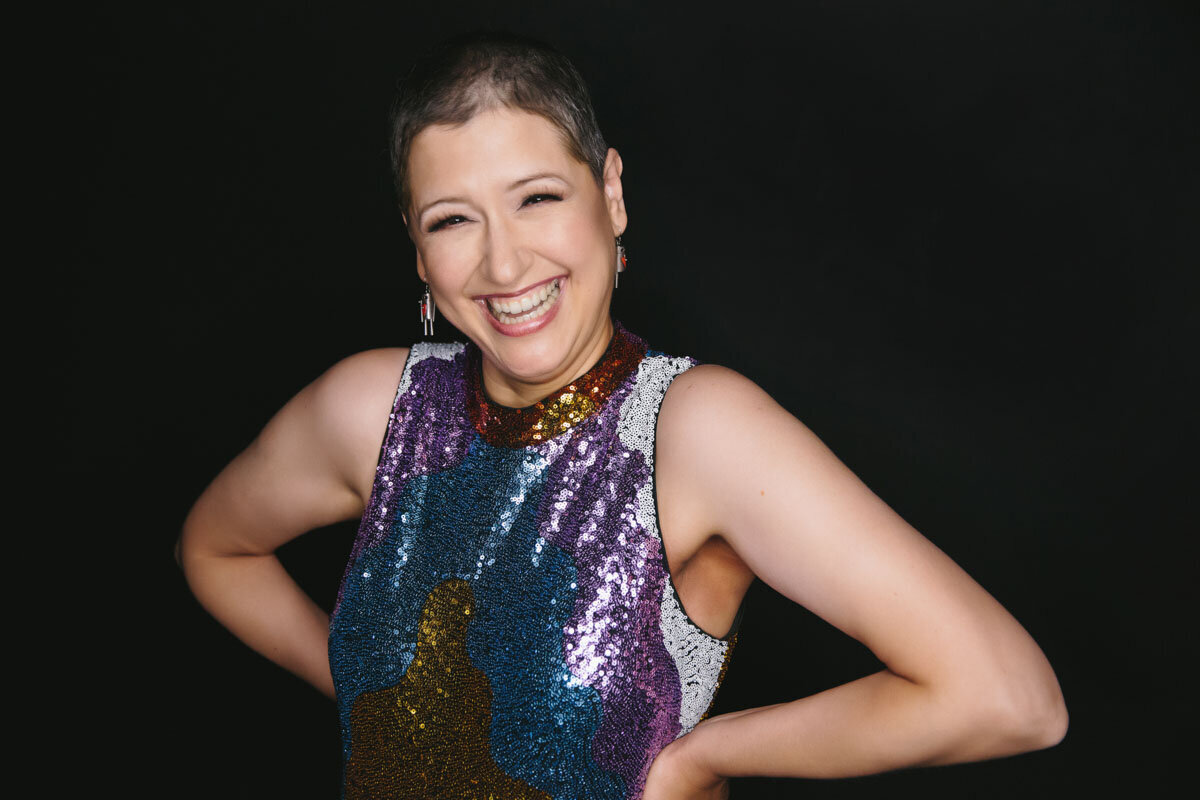
[[[180,552],[200,604],[239,639],[334,697],[329,614],[306,595],[278,558]]]

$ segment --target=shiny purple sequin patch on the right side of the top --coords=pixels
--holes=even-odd
[[[608,398],[613,408],[635,378]],[[600,693],[593,756],[636,787],[636,796],[649,764],[631,763],[628,753],[658,752],[674,740],[680,690],[659,625],[666,583],[659,541],[634,507],[650,474],[642,453],[623,445],[617,423],[617,414],[601,414],[578,427],[551,467],[539,518],[542,537],[569,553],[578,573],[563,660]]]

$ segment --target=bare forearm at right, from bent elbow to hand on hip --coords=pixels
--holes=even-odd
[[[1049,747],[1061,698],[1024,709],[938,696],[889,670],[792,703],[704,721],[679,757],[722,777],[848,777]]]

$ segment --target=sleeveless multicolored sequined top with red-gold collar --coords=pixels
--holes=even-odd
[[[640,798],[736,638],[684,613],[658,527],[659,407],[696,362],[616,324],[514,409],[480,359],[421,343],[404,365],[330,620],[343,796]]]

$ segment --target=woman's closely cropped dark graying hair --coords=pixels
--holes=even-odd
[[[588,166],[598,185],[602,181],[608,145],[575,65],[545,42],[476,31],[437,46],[401,80],[391,110],[391,170],[401,211],[409,215],[413,201],[408,155],[416,134],[431,125],[463,125],[502,106],[545,118],[566,151]]]

